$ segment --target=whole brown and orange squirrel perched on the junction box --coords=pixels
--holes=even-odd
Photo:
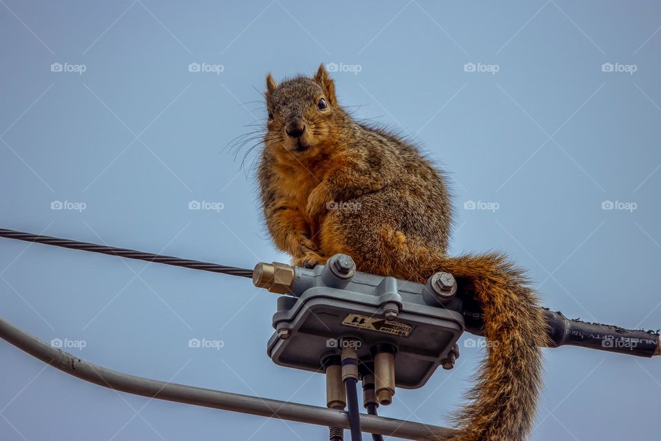
[[[355,121],[323,64],[311,78],[280,84],[268,74],[264,98],[257,177],[275,245],[297,266],[343,253],[359,271],[418,283],[446,271],[472,287],[490,344],[450,439],[525,440],[547,325],[523,271],[501,254],[448,256],[452,209],[443,173],[402,136]]]

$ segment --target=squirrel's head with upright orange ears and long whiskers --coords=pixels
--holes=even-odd
[[[315,156],[339,142],[345,114],[323,64],[313,78],[297,76],[276,84],[268,74],[264,96],[269,112],[264,144],[276,154]]]

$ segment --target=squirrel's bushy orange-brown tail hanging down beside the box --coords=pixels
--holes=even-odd
[[[435,257],[435,256],[434,256]],[[499,254],[442,256],[433,271],[447,271],[474,287],[484,315],[487,357],[471,402],[456,416],[452,441],[523,441],[532,429],[541,389],[547,325],[520,269]]]

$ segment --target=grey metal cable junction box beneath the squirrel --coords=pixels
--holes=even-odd
[[[277,365],[323,372],[323,360],[344,345],[353,345],[361,362],[374,360],[375,347],[392,345],[395,385],[415,389],[459,356],[455,343],[465,327],[451,275],[434,274],[427,285],[375,276],[356,271],[343,254],[293,271],[267,347]]]

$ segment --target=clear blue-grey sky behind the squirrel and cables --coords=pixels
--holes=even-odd
[[[242,153],[223,147],[264,120],[251,101],[266,72],[342,63],[341,102],[415,136],[450,173],[453,253],[501,249],[548,307],[656,329],[660,12],[652,1],[1,0],[0,225],[240,267],[287,261]],[[266,356],[275,296],[245,279],[3,239],[0,298],[3,318],[105,367],[324,404],[322,376]],[[545,353],[533,440],[658,439],[661,360]],[[481,356],[462,347],[454,371],[382,413],[448,424]],[[326,436],[120,395],[4,342],[0,358],[2,440]]]

